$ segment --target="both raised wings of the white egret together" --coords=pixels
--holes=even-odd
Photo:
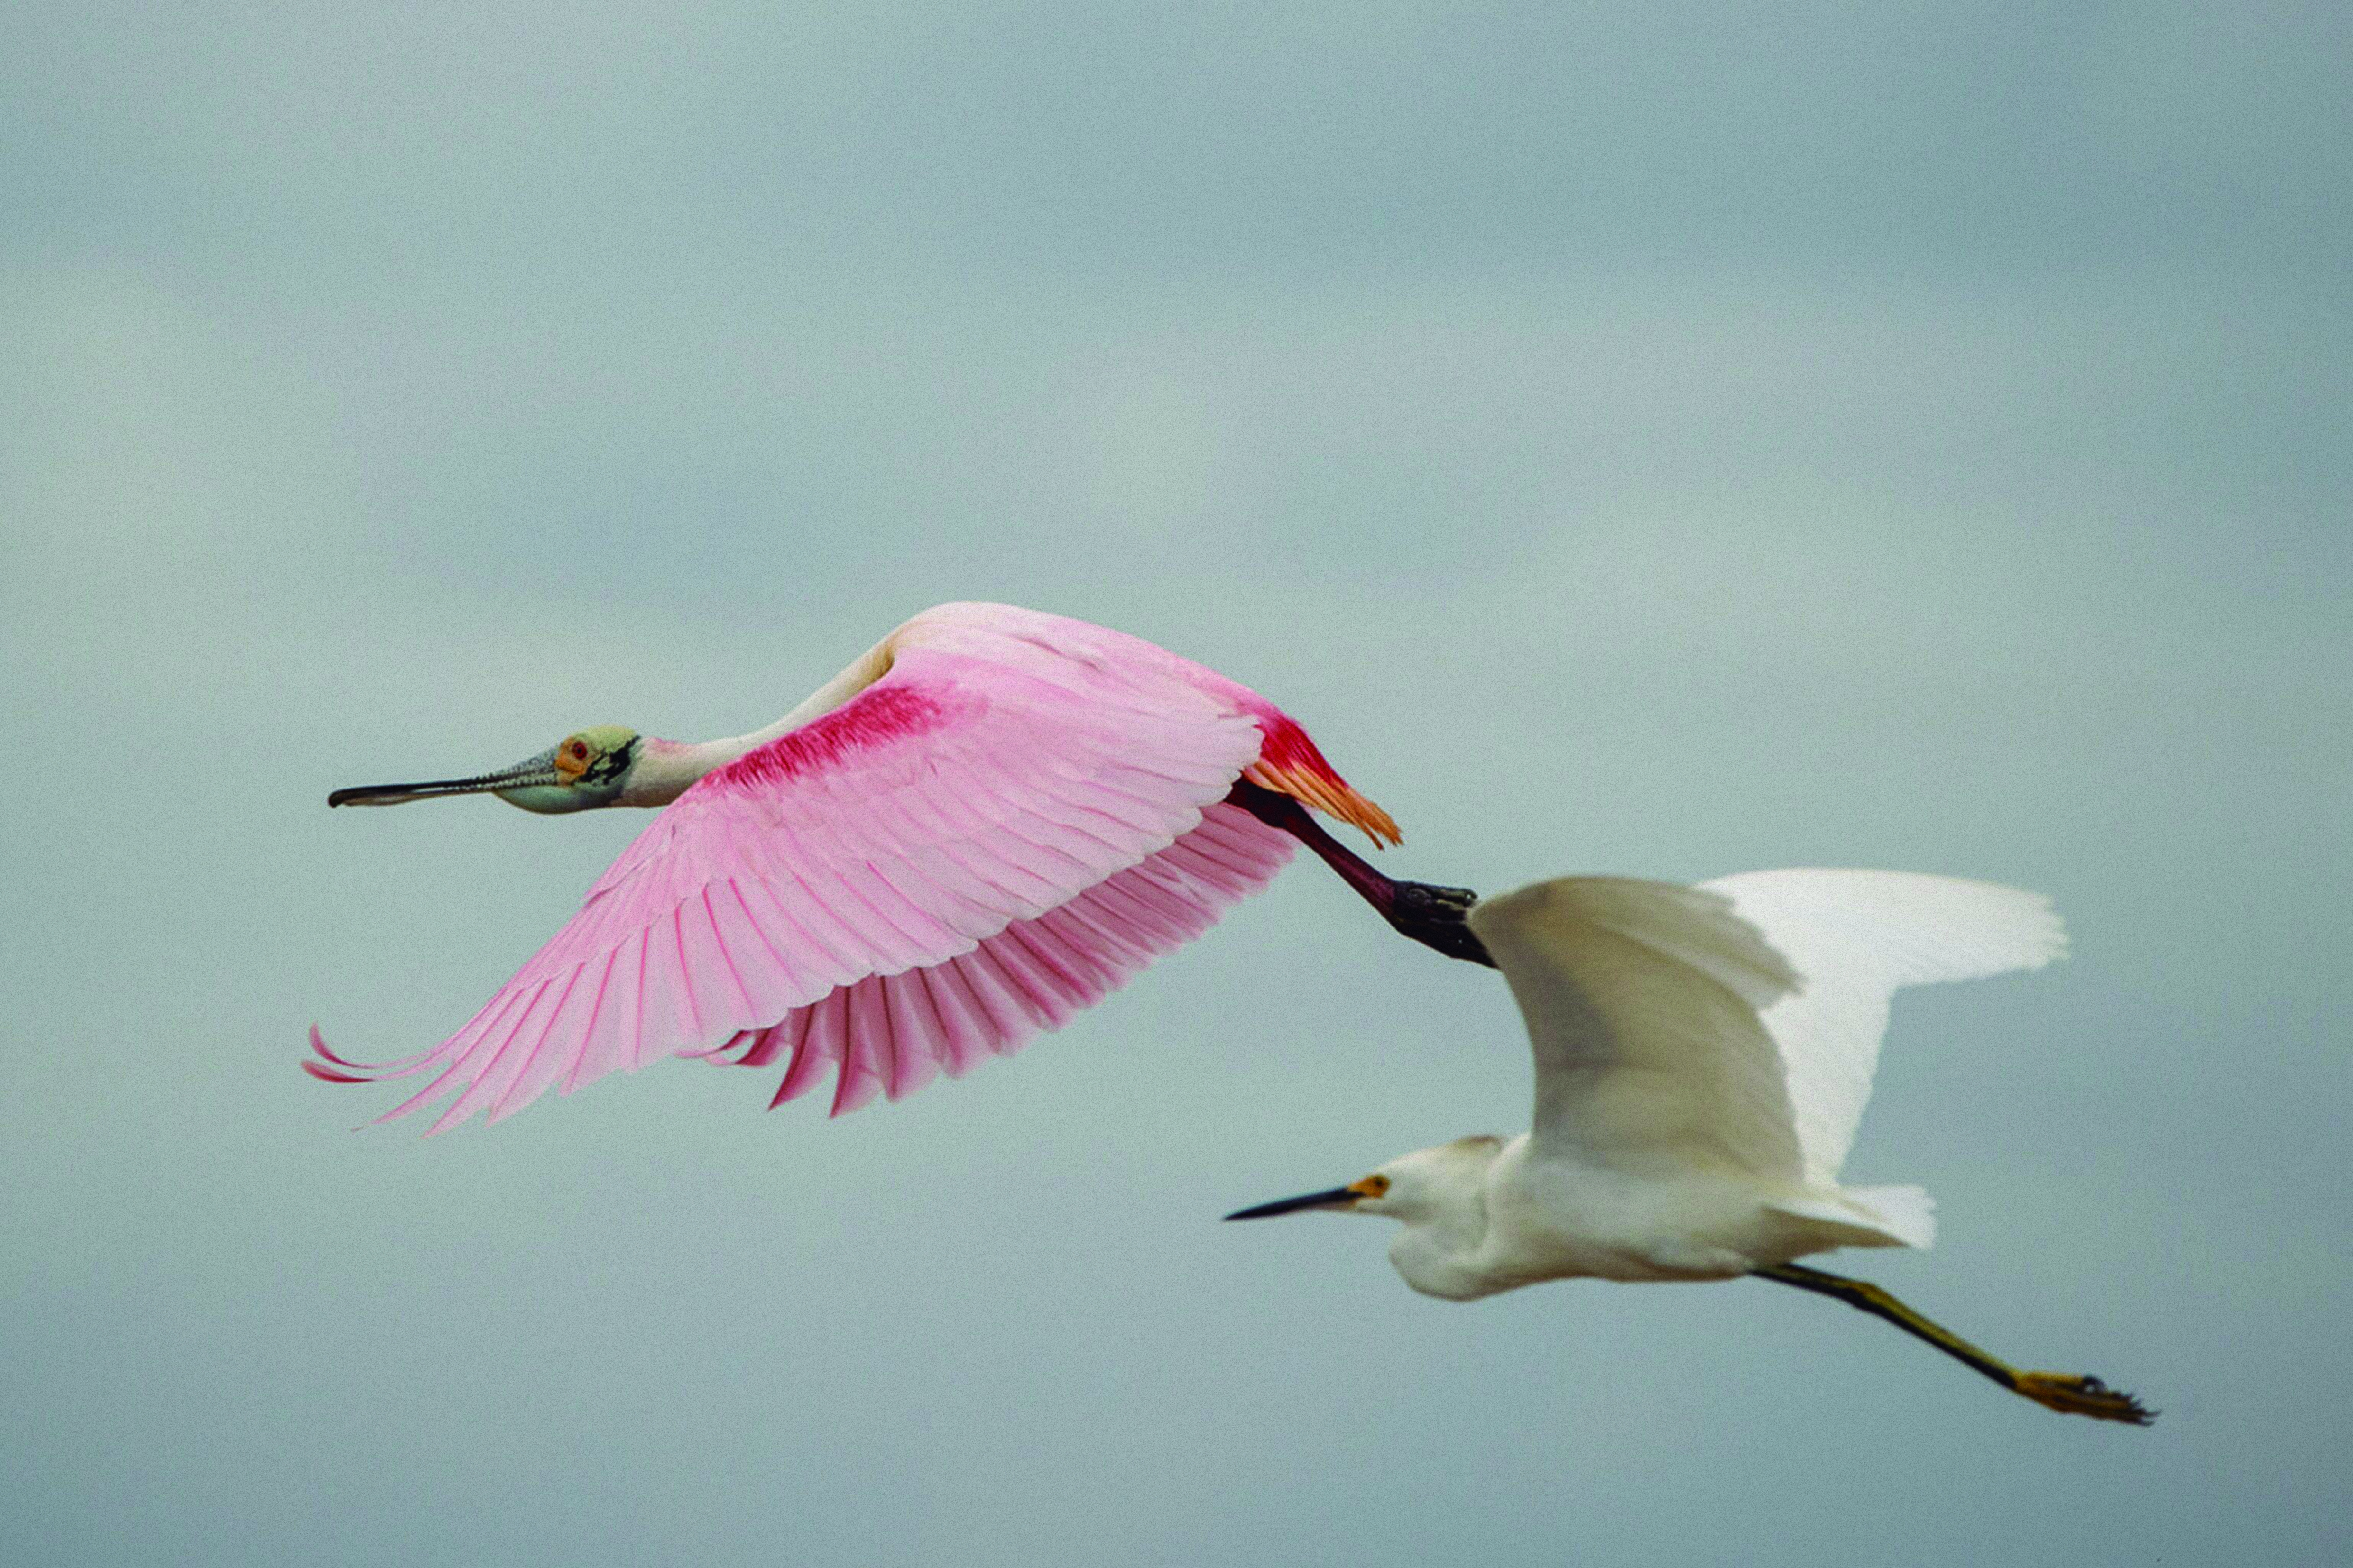
[[[2040,893],[1859,870],[1560,877],[1482,900],[1471,929],[1527,1018],[1539,1140],[1809,1185],[1854,1143],[1897,987],[2066,950]]]

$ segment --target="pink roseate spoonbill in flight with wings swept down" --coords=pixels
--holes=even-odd
[[[833,1114],[962,1074],[1127,983],[1313,849],[1391,926],[1487,964],[1466,889],[1395,882],[1306,806],[1398,825],[1257,691],[1139,637],[1009,604],[927,609],[751,736],[584,729],[499,773],[329,806],[494,792],[661,806],[466,1027],[393,1063],[311,1030],[332,1084],[426,1077],[431,1131],[664,1056],[835,1070]]]

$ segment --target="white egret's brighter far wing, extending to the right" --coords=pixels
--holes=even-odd
[[[1765,933],[1805,983],[1765,1009],[1798,1147],[1833,1180],[1871,1100],[1887,999],[1904,985],[2042,969],[2066,952],[2049,898],[1918,872],[1788,870],[1701,882]]]

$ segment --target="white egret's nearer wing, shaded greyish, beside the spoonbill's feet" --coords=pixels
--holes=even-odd
[[[1758,1018],[1798,976],[1727,896],[1558,877],[1482,898],[1471,931],[1527,1018],[1539,1145],[1628,1171],[1798,1180],[1781,1058]]]

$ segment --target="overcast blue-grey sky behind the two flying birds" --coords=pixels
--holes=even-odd
[[[28,5],[0,21],[0,1559],[2344,1561],[2341,5]],[[1412,1295],[1240,1204],[1527,1117],[1315,867],[826,1121],[353,1135],[635,813],[334,813],[995,597],[1407,875],[1892,865],[1857,1272]],[[1835,1265],[1833,1265],[1835,1267]]]

